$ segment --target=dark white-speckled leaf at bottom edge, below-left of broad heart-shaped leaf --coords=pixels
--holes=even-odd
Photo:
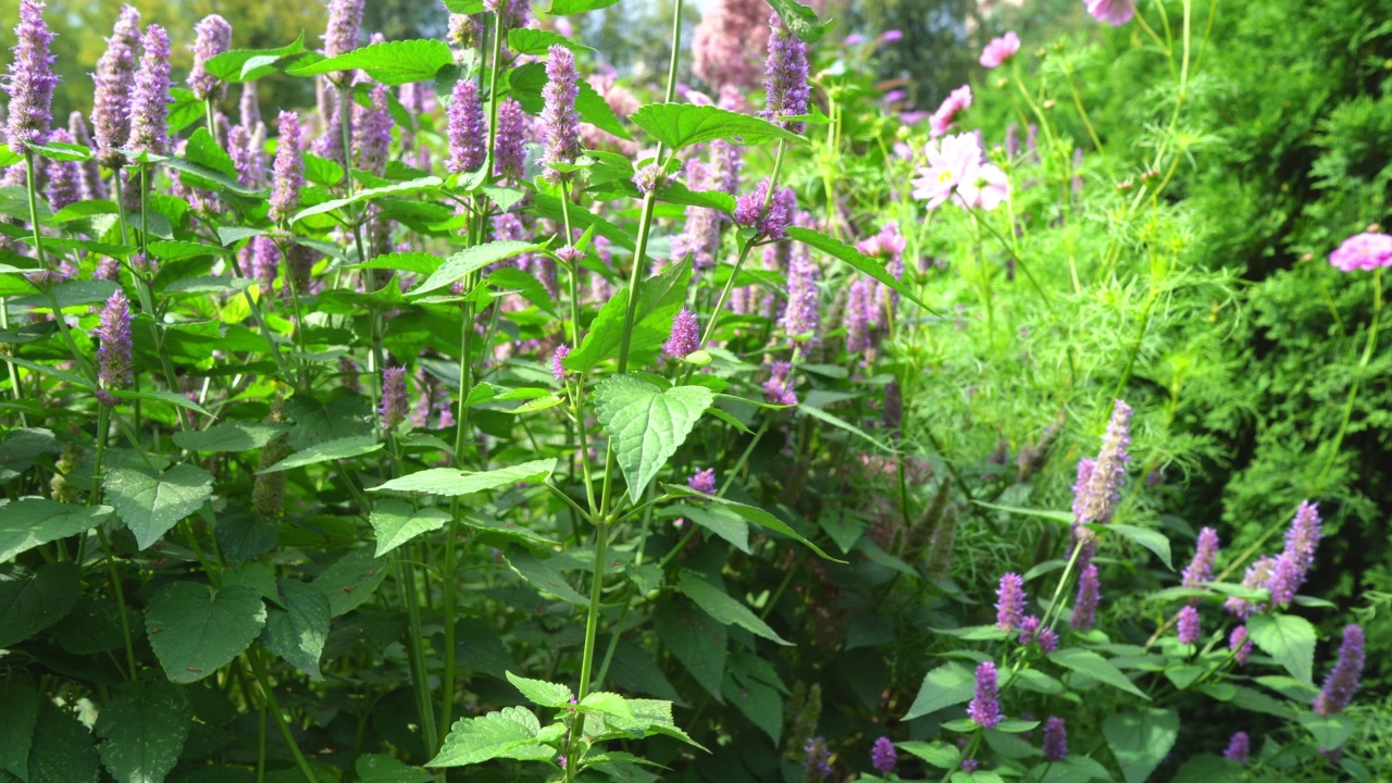
[[[131,683],[96,718],[102,763],[118,783],[152,783],[178,763],[193,711],[173,683]]]

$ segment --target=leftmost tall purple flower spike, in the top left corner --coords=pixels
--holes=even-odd
[[[14,28],[17,43],[10,61],[10,118],[6,138],[11,146],[26,146],[49,141],[53,124],[53,89],[58,77],[53,72],[53,33],[43,21],[45,4],[21,0],[19,24]]]

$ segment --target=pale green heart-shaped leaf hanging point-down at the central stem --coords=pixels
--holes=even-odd
[[[600,426],[614,442],[635,503],[642,502],[647,485],[686,442],[714,398],[703,386],[661,390],[633,375],[617,375],[599,385],[594,405]]]

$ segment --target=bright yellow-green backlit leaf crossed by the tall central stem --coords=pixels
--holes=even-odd
[[[682,261],[643,283],[629,340],[631,365],[646,364],[667,341],[672,333],[672,320],[686,302],[689,277],[690,262]],[[628,288],[619,288],[614,298],[604,302],[580,347],[561,362],[565,369],[587,372],[601,361],[618,355],[619,344],[624,341],[624,319],[631,293]]]

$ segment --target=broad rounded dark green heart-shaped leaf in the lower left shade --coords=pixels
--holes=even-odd
[[[174,683],[196,683],[241,655],[266,626],[266,606],[253,588],[170,582],[145,610],[145,633]]]

